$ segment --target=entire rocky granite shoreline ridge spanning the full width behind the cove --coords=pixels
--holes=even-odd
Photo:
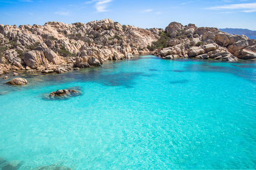
[[[86,24],[0,24],[0,75],[15,70],[63,73],[150,53],[169,59],[255,59],[255,44],[246,36],[176,22],[166,30],[121,25],[110,19]]]

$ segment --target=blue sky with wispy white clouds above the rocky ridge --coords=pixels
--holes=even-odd
[[[0,24],[88,23],[110,18],[141,28],[171,22],[256,30],[256,0],[0,0]]]

